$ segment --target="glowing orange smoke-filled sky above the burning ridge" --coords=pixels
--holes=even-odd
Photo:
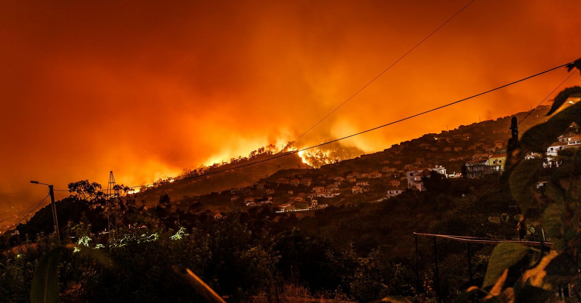
[[[31,179],[64,189],[106,183],[113,170],[139,185],[293,140],[468,1],[103,3],[0,2],[3,205],[44,196]],[[476,0],[298,145],[578,59],[579,12],[578,0]],[[526,110],[565,77],[563,68],[345,144],[381,150]]]

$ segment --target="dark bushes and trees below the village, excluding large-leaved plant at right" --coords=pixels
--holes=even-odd
[[[426,301],[435,295],[430,247],[424,242],[421,288],[417,288],[413,232],[462,230],[465,235],[503,238],[517,234],[515,224],[487,219],[510,211],[507,201],[498,199],[505,196],[499,189],[486,189],[497,179],[436,179],[433,186],[428,185],[429,192],[406,192],[381,203],[329,207],[316,211],[314,217],[301,218],[277,214],[268,207],[214,217],[199,203],[186,210],[175,208],[167,196],[146,209],[128,195],[118,205],[123,209],[119,228],[103,234],[99,233],[107,228],[107,212],[113,208],[94,190],[95,184],[73,183],[71,197],[58,203],[63,241],[95,248],[110,264],[64,250],[58,265],[60,300],[200,300],[174,273],[172,266],[180,265],[202,277],[218,294],[228,296],[228,301],[307,296],[368,302],[393,294]],[[0,293],[6,302],[28,300],[40,258],[56,247],[48,207],[18,229],[20,238],[5,243],[13,247],[0,256],[0,283],[11,286]],[[490,247],[476,249],[477,272],[482,272],[489,253]],[[449,265],[442,287],[453,296],[468,286],[465,266],[453,262],[465,253],[442,243],[439,254],[443,264]]]

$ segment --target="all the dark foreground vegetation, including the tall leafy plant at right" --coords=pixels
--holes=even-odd
[[[551,111],[569,96],[581,97],[581,88],[562,92]],[[581,103],[531,128],[520,142],[512,140],[501,179],[449,180],[433,174],[425,179],[427,192],[328,207],[315,217],[277,214],[268,207],[214,215],[193,201],[185,209],[175,208],[167,195],[147,209],[123,186],[117,188],[121,199],[106,200],[96,183],[71,183],[71,196],[59,201],[57,209],[63,243],[76,246],[61,246],[55,239],[48,207],[19,225],[20,235],[5,239],[0,254],[0,283],[5,286],[0,301],[26,302],[31,288],[33,302],[55,293],[44,298],[205,301],[175,273],[175,266],[191,269],[232,302],[295,297],[553,302],[565,289],[579,299],[581,150],[560,151],[556,169],[543,169],[542,159],[525,160],[531,151],[546,151],[573,122],[581,124],[579,117]],[[541,190],[539,181],[547,182]],[[112,221],[116,229],[109,228]],[[469,255],[470,280],[467,265],[458,261],[467,258],[465,248],[442,241],[437,281],[429,242],[419,241],[418,272],[414,270],[413,232],[418,231],[547,240],[552,246],[475,245]],[[58,280],[53,288],[47,287],[51,277]]]

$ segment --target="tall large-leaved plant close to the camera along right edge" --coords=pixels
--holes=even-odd
[[[581,60],[569,69],[580,67]],[[512,197],[517,201],[523,219],[543,228],[547,240],[552,241],[551,250],[526,247],[519,243],[498,244],[490,257],[482,287],[470,287],[457,302],[468,302],[475,295],[484,302],[553,302],[558,287],[573,285],[573,293],[581,301],[580,291],[574,285],[581,283],[581,149],[563,149],[558,152],[560,165],[549,171],[544,193],[539,192],[537,183],[547,177],[543,159],[525,160],[530,152],[545,153],[547,147],[557,141],[573,122],[581,124],[581,102],[560,110],[569,98],[581,97],[581,87],[567,88],[561,92],[549,114],[551,118],[529,129],[522,135],[519,144],[513,144],[508,153],[512,166],[508,168],[508,183]],[[498,223],[507,217],[489,218]],[[528,268],[514,280],[513,266],[521,264]],[[516,267],[516,266],[515,266]]]

